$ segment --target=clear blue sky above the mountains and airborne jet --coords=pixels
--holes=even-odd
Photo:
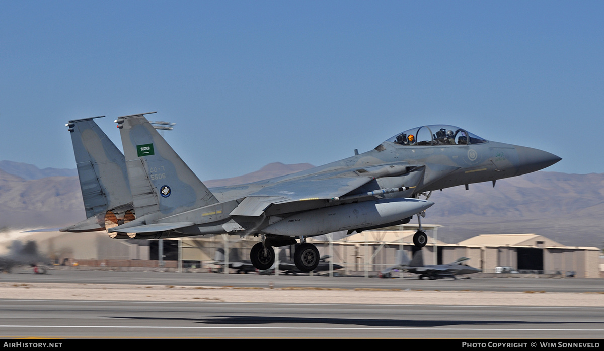
[[[0,160],[75,168],[68,119],[158,111],[200,179],[452,124],[604,172],[602,1],[3,1]]]

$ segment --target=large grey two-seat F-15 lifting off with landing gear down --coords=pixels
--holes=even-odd
[[[545,151],[487,141],[451,125],[397,133],[373,150],[327,165],[239,186],[208,189],[144,115],[115,120],[124,153],[94,118],[69,121],[85,221],[66,232],[106,230],[118,239],[216,234],[259,236],[254,267],[275,261],[273,247],[300,245],[301,271],[319,264],[306,238],[408,223],[434,204],[430,191],[519,176],[561,160]],[[426,194],[426,199],[420,195]],[[428,237],[421,227],[414,244]]]

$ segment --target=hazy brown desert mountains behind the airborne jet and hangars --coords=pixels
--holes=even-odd
[[[312,168],[270,163],[256,172],[206,180],[236,185]],[[569,246],[604,245],[604,174],[535,172],[492,183],[432,192],[425,224],[440,224],[439,239],[455,243],[479,234],[536,233]],[[85,219],[75,169],[39,169],[0,161],[0,230],[61,227]],[[412,223],[416,223],[414,219]]]

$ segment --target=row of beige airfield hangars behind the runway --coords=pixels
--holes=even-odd
[[[599,249],[596,247],[567,247],[536,234],[478,235],[457,244],[438,240],[440,226],[423,226],[429,241],[423,250],[425,264],[446,264],[466,257],[466,263],[481,268],[481,274],[495,274],[496,267],[512,267],[520,274],[548,274],[577,277],[600,277]],[[413,234],[417,226],[406,224],[362,233],[329,235],[309,238],[321,256],[344,266],[341,274],[371,275],[390,267],[396,261],[396,251],[404,250],[411,257],[415,250]],[[57,233],[58,234],[58,233]],[[226,235],[210,238],[164,240],[164,259],[176,267],[179,247],[185,267],[205,267],[216,260],[216,252],[229,252],[229,259],[248,260],[255,238],[228,239]],[[86,265],[120,267],[158,267],[158,241],[116,240],[104,233],[61,233],[39,242],[40,250],[54,262],[80,262]],[[291,248],[283,247],[279,250]],[[293,261],[293,260],[292,260]],[[155,263],[153,263],[155,262]]]

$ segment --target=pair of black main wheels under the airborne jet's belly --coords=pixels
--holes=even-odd
[[[296,267],[303,272],[310,272],[319,265],[319,250],[313,244],[308,244],[304,238],[301,238],[302,244],[296,248],[294,253],[294,263]],[[268,270],[275,264],[275,250],[272,246],[263,240],[252,247],[249,252],[249,259],[252,265],[259,270]]]

